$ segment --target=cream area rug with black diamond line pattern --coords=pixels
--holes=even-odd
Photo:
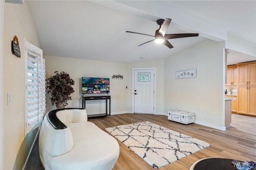
[[[148,121],[105,130],[155,169],[210,146],[207,142]]]

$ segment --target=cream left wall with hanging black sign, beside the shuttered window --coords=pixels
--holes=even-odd
[[[19,39],[21,58],[14,56],[11,51],[11,41],[15,35]],[[28,1],[24,1],[24,5],[4,3],[3,168],[5,170],[22,169],[38,131],[38,129],[33,130],[24,138],[25,38],[40,47]],[[10,105],[7,105],[8,92],[12,93]]]

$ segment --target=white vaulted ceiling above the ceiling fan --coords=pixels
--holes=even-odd
[[[227,32],[256,43],[256,1],[30,1],[44,55],[133,63],[168,57],[206,38],[227,40]],[[156,20],[171,18],[166,34],[199,33],[169,40],[153,37]],[[252,56],[250,56],[252,57]]]

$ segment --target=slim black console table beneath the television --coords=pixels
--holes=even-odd
[[[102,95],[102,96],[91,95],[91,96],[82,96],[82,97],[83,97],[83,103],[82,103],[83,109],[86,109],[85,105],[87,100],[106,100],[106,113],[87,115],[88,118],[104,117],[104,116],[110,117],[110,95]],[[109,100],[109,107],[108,107],[108,100]]]

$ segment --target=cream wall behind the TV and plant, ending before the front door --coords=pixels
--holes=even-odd
[[[46,55],[44,55],[44,59],[46,60],[46,77],[54,75],[54,71],[64,71],[75,81],[73,86],[75,92],[71,94],[72,100],[68,101],[66,108],[82,107],[82,77],[102,77],[110,78],[111,114],[131,113],[131,107],[128,104],[128,93],[131,91],[126,89],[130,77],[128,76],[126,64]],[[124,75],[124,79],[112,79],[112,75]],[[48,111],[56,109],[55,106],[52,106],[49,98],[50,94],[46,94],[46,107]],[[86,104],[88,114],[93,112],[105,113],[105,108],[102,109],[102,106],[104,107],[102,103],[100,103],[100,107],[97,107],[98,105],[90,105],[93,103],[90,101],[86,101],[86,103],[89,103],[88,105]],[[99,110],[95,110],[96,108]]]

